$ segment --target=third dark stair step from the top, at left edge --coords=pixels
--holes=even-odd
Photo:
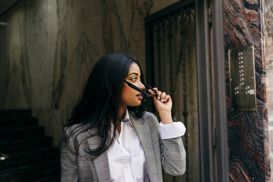
[[[31,138],[33,136],[42,136],[45,134],[45,127],[43,126],[29,126],[21,128],[0,128],[0,141]]]

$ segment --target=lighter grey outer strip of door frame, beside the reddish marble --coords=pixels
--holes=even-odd
[[[229,181],[223,1],[212,0],[217,181]]]

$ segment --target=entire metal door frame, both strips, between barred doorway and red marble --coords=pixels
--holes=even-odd
[[[212,5],[211,22],[209,20],[209,3]],[[229,181],[229,167],[223,3],[217,0],[196,0],[196,14],[201,181],[227,182]],[[209,23],[212,24],[211,42]],[[212,58],[210,57],[211,51]],[[210,67],[210,60],[213,62],[213,70]],[[213,88],[211,88],[210,72],[213,72]],[[213,100],[211,98],[212,91],[214,92]],[[212,101],[214,108],[212,108]],[[212,126],[212,109],[215,112],[215,132]],[[213,156],[214,148],[216,148],[216,161]],[[214,167],[217,170],[214,170]]]

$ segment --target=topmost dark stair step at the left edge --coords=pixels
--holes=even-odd
[[[31,110],[29,109],[0,110],[0,118],[18,118],[18,117],[31,117]]]

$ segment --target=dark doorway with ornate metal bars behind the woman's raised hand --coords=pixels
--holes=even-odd
[[[148,82],[170,94],[174,121],[187,128],[183,176],[164,174],[164,181],[200,181],[195,4],[178,2],[146,18]],[[147,46],[147,45],[146,45]],[[150,69],[151,68],[151,69]]]

